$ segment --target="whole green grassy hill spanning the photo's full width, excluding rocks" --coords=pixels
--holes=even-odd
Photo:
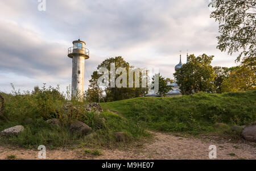
[[[55,90],[40,90],[31,94],[3,94],[5,110],[0,116],[0,131],[22,125],[25,131],[18,136],[0,137],[0,144],[26,148],[63,147],[84,144],[93,147],[122,145],[114,132],[125,132],[129,141],[150,136],[146,130],[231,134],[234,124],[245,125],[256,120],[256,91],[226,94],[205,94],[166,98],[134,98],[101,103],[100,115],[86,112],[86,102],[67,101]],[[64,110],[72,103],[79,110]],[[47,119],[59,118],[61,127],[48,124]],[[26,120],[30,119],[30,122]],[[92,136],[77,136],[69,132],[69,122],[80,120],[92,127]],[[105,120],[105,122],[102,122]],[[214,123],[226,123],[218,129]]]

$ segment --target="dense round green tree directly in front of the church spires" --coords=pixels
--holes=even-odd
[[[213,56],[205,54],[198,57],[189,55],[187,64],[183,64],[174,73],[182,94],[188,95],[199,91],[215,92],[214,78],[216,75],[210,65],[212,60]]]

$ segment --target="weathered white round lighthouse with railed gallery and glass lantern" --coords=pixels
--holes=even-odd
[[[68,57],[72,59],[72,97],[82,97],[84,93],[84,62],[89,59],[89,49],[85,45],[79,39],[73,41],[73,47],[68,48]]]

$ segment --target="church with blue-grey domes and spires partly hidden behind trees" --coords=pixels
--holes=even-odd
[[[187,62],[188,62],[188,53],[187,53]],[[180,55],[180,62],[175,66],[175,70],[181,68],[182,66],[181,62],[181,55]],[[176,97],[176,96],[181,96],[182,94],[180,93],[179,85],[176,83],[176,78],[174,78],[174,82],[170,83],[169,81],[167,82],[167,86],[172,86],[172,90],[169,91],[166,94],[166,97]],[[159,94],[155,94],[154,90],[149,90],[148,94],[145,95],[145,97],[161,97]]]

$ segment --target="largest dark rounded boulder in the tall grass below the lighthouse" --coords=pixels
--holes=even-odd
[[[86,135],[89,132],[92,131],[92,128],[86,125],[85,123],[82,123],[78,120],[75,120],[69,127],[69,131],[72,133],[78,133],[81,135]]]

